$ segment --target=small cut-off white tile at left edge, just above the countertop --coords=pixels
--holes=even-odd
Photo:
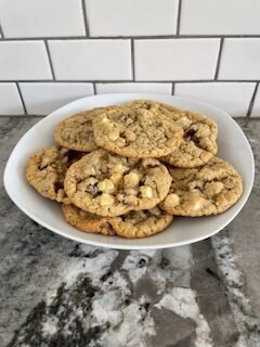
[[[0,83],[0,115],[23,115],[24,107],[15,83]]]

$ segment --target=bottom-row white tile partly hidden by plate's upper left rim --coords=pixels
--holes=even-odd
[[[92,83],[20,83],[28,114],[47,115],[56,108],[93,94]]]

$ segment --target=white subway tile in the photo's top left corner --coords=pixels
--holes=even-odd
[[[8,38],[86,34],[80,0],[3,0],[0,20]]]

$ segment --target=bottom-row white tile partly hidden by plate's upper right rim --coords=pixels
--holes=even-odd
[[[176,95],[197,99],[220,107],[234,117],[246,116],[256,83],[177,83]]]

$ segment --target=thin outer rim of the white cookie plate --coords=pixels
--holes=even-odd
[[[32,132],[35,130],[35,128],[38,128],[41,126],[41,123],[44,123],[46,119],[50,119],[52,117],[55,117],[55,114],[56,113],[61,113],[63,112],[65,108],[67,108],[67,106],[70,106],[70,105],[76,105],[84,100],[89,100],[89,99],[102,99],[104,98],[104,95],[106,98],[113,98],[113,97],[131,97],[131,98],[135,98],[135,99],[153,99],[153,98],[160,98],[160,97],[167,97],[167,98],[171,98],[172,100],[174,99],[178,99],[178,100],[181,100],[181,101],[187,101],[187,102],[193,102],[193,103],[196,103],[198,105],[202,105],[202,106],[206,106],[206,107],[210,107],[210,108],[213,108],[216,112],[220,112],[220,113],[224,113],[225,116],[232,120],[233,123],[233,126],[236,127],[236,130],[240,133],[240,136],[244,138],[246,144],[247,144],[247,150],[248,150],[248,153],[250,154],[250,162],[252,164],[252,170],[250,171],[250,182],[249,182],[249,188],[248,188],[248,191],[245,193],[244,192],[244,201],[242,203],[242,205],[239,206],[239,208],[234,213],[234,215],[232,215],[227,220],[226,222],[224,222],[224,224],[222,227],[219,227],[217,228],[213,232],[209,233],[207,236],[202,236],[202,237],[194,237],[194,239],[191,239],[191,240],[187,240],[187,241],[179,241],[179,242],[173,242],[173,243],[166,243],[166,244],[159,244],[159,245],[127,245],[127,244],[114,244],[114,243],[107,243],[105,244],[104,242],[99,242],[99,241],[92,241],[92,240],[82,240],[79,236],[73,236],[73,235],[67,235],[67,234],[64,234],[62,231],[60,231],[60,229],[55,228],[55,227],[52,227],[50,224],[48,224],[47,222],[42,221],[41,219],[39,219],[38,217],[36,217],[26,206],[22,205],[20,202],[17,202],[15,200],[15,197],[12,195],[12,193],[10,192],[10,189],[9,189],[9,182],[8,182],[8,171],[9,171],[9,167],[12,163],[12,157],[15,155],[15,152],[16,152],[16,147],[18,146],[18,144],[23,141],[23,139],[27,136],[30,134],[30,132]],[[83,111],[83,110],[82,110]],[[78,111],[80,112],[80,111]],[[206,102],[203,102],[200,100],[196,100],[196,99],[192,99],[192,98],[184,98],[184,97],[178,97],[178,95],[169,95],[169,94],[162,94],[162,93],[107,93],[107,94],[98,94],[98,95],[89,95],[89,97],[84,97],[84,98],[80,98],[80,99],[77,99],[73,102],[69,102],[65,105],[63,105],[62,107],[58,107],[57,110],[53,111],[52,113],[50,113],[49,115],[47,116],[43,116],[42,119],[40,119],[37,124],[35,124],[32,127],[30,127],[21,138],[20,140],[15,143],[9,158],[8,158],[8,162],[5,164],[5,168],[4,168],[4,171],[3,171],[3,187],[5,189],[5,192],[6,194],[9,195],[9,197],[11,198],[11,201],[25,214],[27,215],[30,219],[32,219],[34,221],[36,221],[37,223],[39,223],[40,226],[42,226],[43,228],[63,236],[63,237],[66,237],[68,240],[73,240],[73,241],[76,241],[76,242],[80,242],[80,243],[84,243],[84,244],[89,244],[89,245],[92,245],[92,246],[100,246],[100,247],[105,247],[105,248],[113,248],[113,249],[164,249],[164,248],[171,248],[171,247],[177,247],[177,246],[181,246],[181,245],[187,245],[187,244],[193,244],[193,243],[196,243],[196,242],[199,242],[199,241],[203,241],[203,240],[206,240],[208,237],[211,237],[212,235],[217,234],[218,232],[220,232],[221,230],[223,230],[227,224],[230,224],[230,222],[240,213],[240,210],[243,209],[243,207],[245,206],[246,202],[248,201],[248,197],[251,193],[251,190],[252,190],[252,187],[253,187],[253,181],[255,181],[255,157],[253,157],[253,153],[252,153],[252,150],[251,150],[251,146],[250,146],[250,143],[247,139],[247,137],[245,136],[244,131],[242,130],[242,128],[239,127],[239,125],[233,119],[233,117],[231,115],[229,115],[225,111],[223,111],[222,108],[220,107],[217,107],[214,105],[211,105],[209,103],[206,103]],[[76,229],[76,228],[75,228]],[[76,229],[77,230],[77,229]]]

